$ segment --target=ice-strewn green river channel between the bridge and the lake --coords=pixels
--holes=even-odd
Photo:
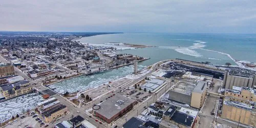
[[[145,66],[138,66],[138,69],[141,70]],[[89,88],[94,88],[99,86],[102,83],[113,81],[124,77],[126,75],[132,74],[134,72],[134,66],[125,66],[118,69],[114,69],[109,72],[103,72],[99,74],[94,74],[90,76],[79,76],[65,81],[61,81],[49,86],[50,89],[54,89],[55,92],[63,94],[67,91],[69,93],[79,92]]]

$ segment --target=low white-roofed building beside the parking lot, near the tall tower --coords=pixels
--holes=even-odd
[[[152,79],[150,81],[145,82],[142,86],[141,89],[146,91],[151,91],[151,92],[156,92],[158,89],[163,87],[166,83],[165,80],[161,79]]]

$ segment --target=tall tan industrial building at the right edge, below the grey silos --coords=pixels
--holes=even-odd
[[[224,93],[221,117],[249,126],[256,126],[256,91],[248,87],[232,87]]]

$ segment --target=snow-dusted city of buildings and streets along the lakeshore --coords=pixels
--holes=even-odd
[[[177,57],[139,69],[151,58],[118,51],[152,46],[77,41],[100,34],[115,33],[0,32],[0,126],[256,127],[254,64]],[[126,66],[132,74],[93,87],[52,86]]]

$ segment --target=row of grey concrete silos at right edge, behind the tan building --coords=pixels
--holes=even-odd
[[[223,79],[223,87],[225,89],[232,89],[233,86],[236,87],[249,87],[253,88],[256,86],[256,74],[247,75],[247,74],[231,74],[228,71],[225,71]]]

